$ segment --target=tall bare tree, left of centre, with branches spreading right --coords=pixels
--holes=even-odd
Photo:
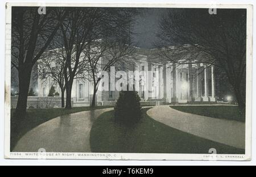
[[[127,31],[127,11],[112,8],[75,8],[64,9],[68,11],[63,24],[61,24],[61,32],[63,34],[65,52],[67,59],[65,61],[64,76],[66,83],[67,99],[65,108],[71,108],[71,91],[72,83],[77,72],[80,62],[89,62],[88,58],[81,61],[83,53],[91,48],[93,41],[102,39],[102,37],[121,35],[121,31]],[[126,17],[126,18],[124,18]],[[123,33],[124,34],[124,33]],[[119,37],[119,36],[118,36]],[[88,47],[89,46],[89,47]],[[87,49],[86,49],[87,47]],[[102,51],[98,53],[101,56]],[[71,62],[72,52],[75,51],[75,61]],[[88,57],[88,53],[84,53]],[[72,66],[74,66],[72,68]],[[95,65],[94,65],[95,66]],[[92,65],[92,68],[95,68]],[[69,77],[68,77],[69,76]]]

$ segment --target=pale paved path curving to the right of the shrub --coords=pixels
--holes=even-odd
[[[195,136],[245,149],[245,123],[214,119],[180,112],[170,106],[157,106],[148,115],[163,124]]]

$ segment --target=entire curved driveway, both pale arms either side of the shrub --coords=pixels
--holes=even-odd
[[[26,133],[14,148],[15,152],[90,152],[90,129],[101,113],[113,108],[64,115],[49,120]],[[148,115],[172,128],[221,144],[245,149],[245,124],[184,113],[170,106],[156,106]]]

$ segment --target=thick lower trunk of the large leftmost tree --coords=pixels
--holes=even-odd
[[[20,68],[19,70],[19,97],[16,106],[16,115],[23,118],[27,110],[27,96],[30,88],[32,68]]]

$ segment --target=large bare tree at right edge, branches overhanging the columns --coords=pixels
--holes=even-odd
[[[246,10],[218,9],[210,15],[208,9],[172,9],[159,26],[158,54],[164,61],[217,66],[245,109]]]

